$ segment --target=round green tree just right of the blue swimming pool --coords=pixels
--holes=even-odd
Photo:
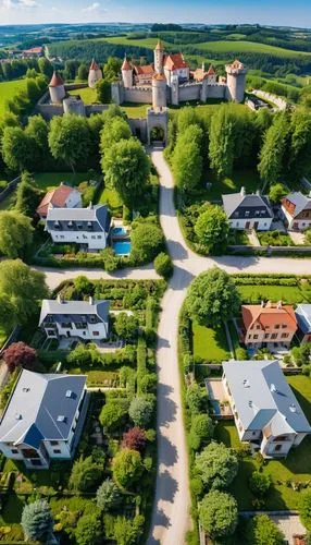
[[[164,244],[163,232],[154,223],[138,223],[130,235],[130,257],[135,264],[149,263]]]

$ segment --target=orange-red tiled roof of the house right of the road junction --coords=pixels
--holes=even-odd
[[[242,305],[241,316],[246,329],[253,324],[259,324],[261,329],[274,327],[276,324],[286,324],[290,331],[297,330],[297,319],[291,305],[272,304],[270,301],[264,306]]]

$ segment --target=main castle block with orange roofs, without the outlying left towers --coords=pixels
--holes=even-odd
[[[202,65],[191,72],[184,56],[165,53],[160,40],[153,55],[154,61],[148,65],[130,64],[124,59],[122,77],[111,87],[114,102],[145,102],[164,108],[189,100],[206,102],[209,98],[244,100],[247,71],[238,60],[225,66],[225,78],[217,76],[212,65],[208,71]]]

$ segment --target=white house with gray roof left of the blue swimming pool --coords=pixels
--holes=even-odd
[[[103,250],[110,231],[111,217],[105,205],[87,208],[49,207],[45,230],[53,242],[77,243],[87,250]]]

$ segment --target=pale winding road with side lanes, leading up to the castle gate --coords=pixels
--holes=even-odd
[[[160,221],[174,263],[174,275],[162,300],[159,324],[158,365],[158,473],[148,545],[182,545],[190,529],[188,460],[183,424],[181,380],[177,361],[178,315],[190,281],[217,265],[227,272],[310,274],[309,259],[284,257],[201,257],[189,250],[179,229],[174,206],[174,183],[163,152],[150,153],[160,175]],[[99,278],[159,278],[152,267],[123,269],[112,275],[101,269],[43,269],[47,283],[54,289],[60,281],[86,275]]]

